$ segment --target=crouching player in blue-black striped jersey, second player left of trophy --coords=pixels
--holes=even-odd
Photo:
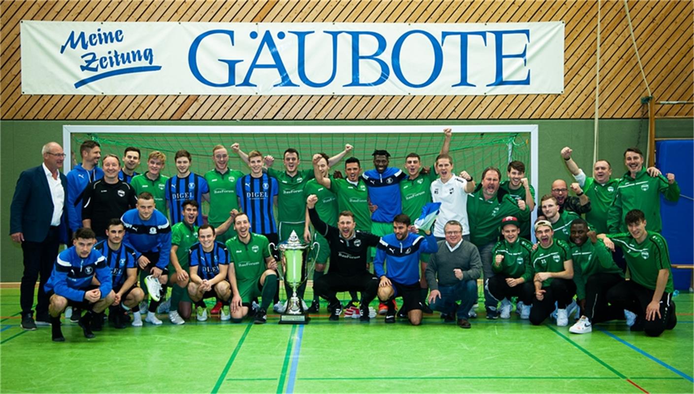
[[[198,229],[198,243],[189,250],[190,283],[188,295],[197,307],[198,321],[208,320],[205,298],[217,297],[222,302],[221,320],[229,320],[231,287],[226,280],[229,252],[223,243],[214,241],[214,227],[203,224]]]

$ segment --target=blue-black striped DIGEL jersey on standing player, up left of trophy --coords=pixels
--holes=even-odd
[[[273,198],[278,193],[277,179],[266,173],[263,173],[260,178],[253,178],[251,174],[244,175],[236,182],[236,195],[241,200],[242,211],[248,214],[251,232],[256,234],[277,232],[272,205]]]

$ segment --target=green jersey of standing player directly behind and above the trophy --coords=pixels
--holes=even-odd
[[[280,222],[303,223],[306,220],[306,183],[314,178],[313,170],[297,171],[289,176],[287,171],[267,169],[267,175],[276,178],[279,186],[277,196],[277,219]]]

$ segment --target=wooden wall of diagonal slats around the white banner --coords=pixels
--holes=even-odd
[[[623,3],[602,2],[600,116],[641,117],[645,85]],[[694,6],[630,0],[646,78],[656,100],[694,94]],[[0,13],[2,119],[575,119],[593,116],[594,1],[10,1]],[[19,21],[566,22],[564,94],[507,96],[78,96],[21,92]],[[659,106],[691,116],[693,106]]]

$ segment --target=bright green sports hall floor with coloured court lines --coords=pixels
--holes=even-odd
[[[382,316],[331,322],[321,305],[305,326],[205,323],[116,330],[96,338],[64,323],[19,327],[19,289],[0,289],[1,393],[693,393],[691,293],[659,338],[623,323],[569,334],[553,324],[425,315],[420,327]]]

